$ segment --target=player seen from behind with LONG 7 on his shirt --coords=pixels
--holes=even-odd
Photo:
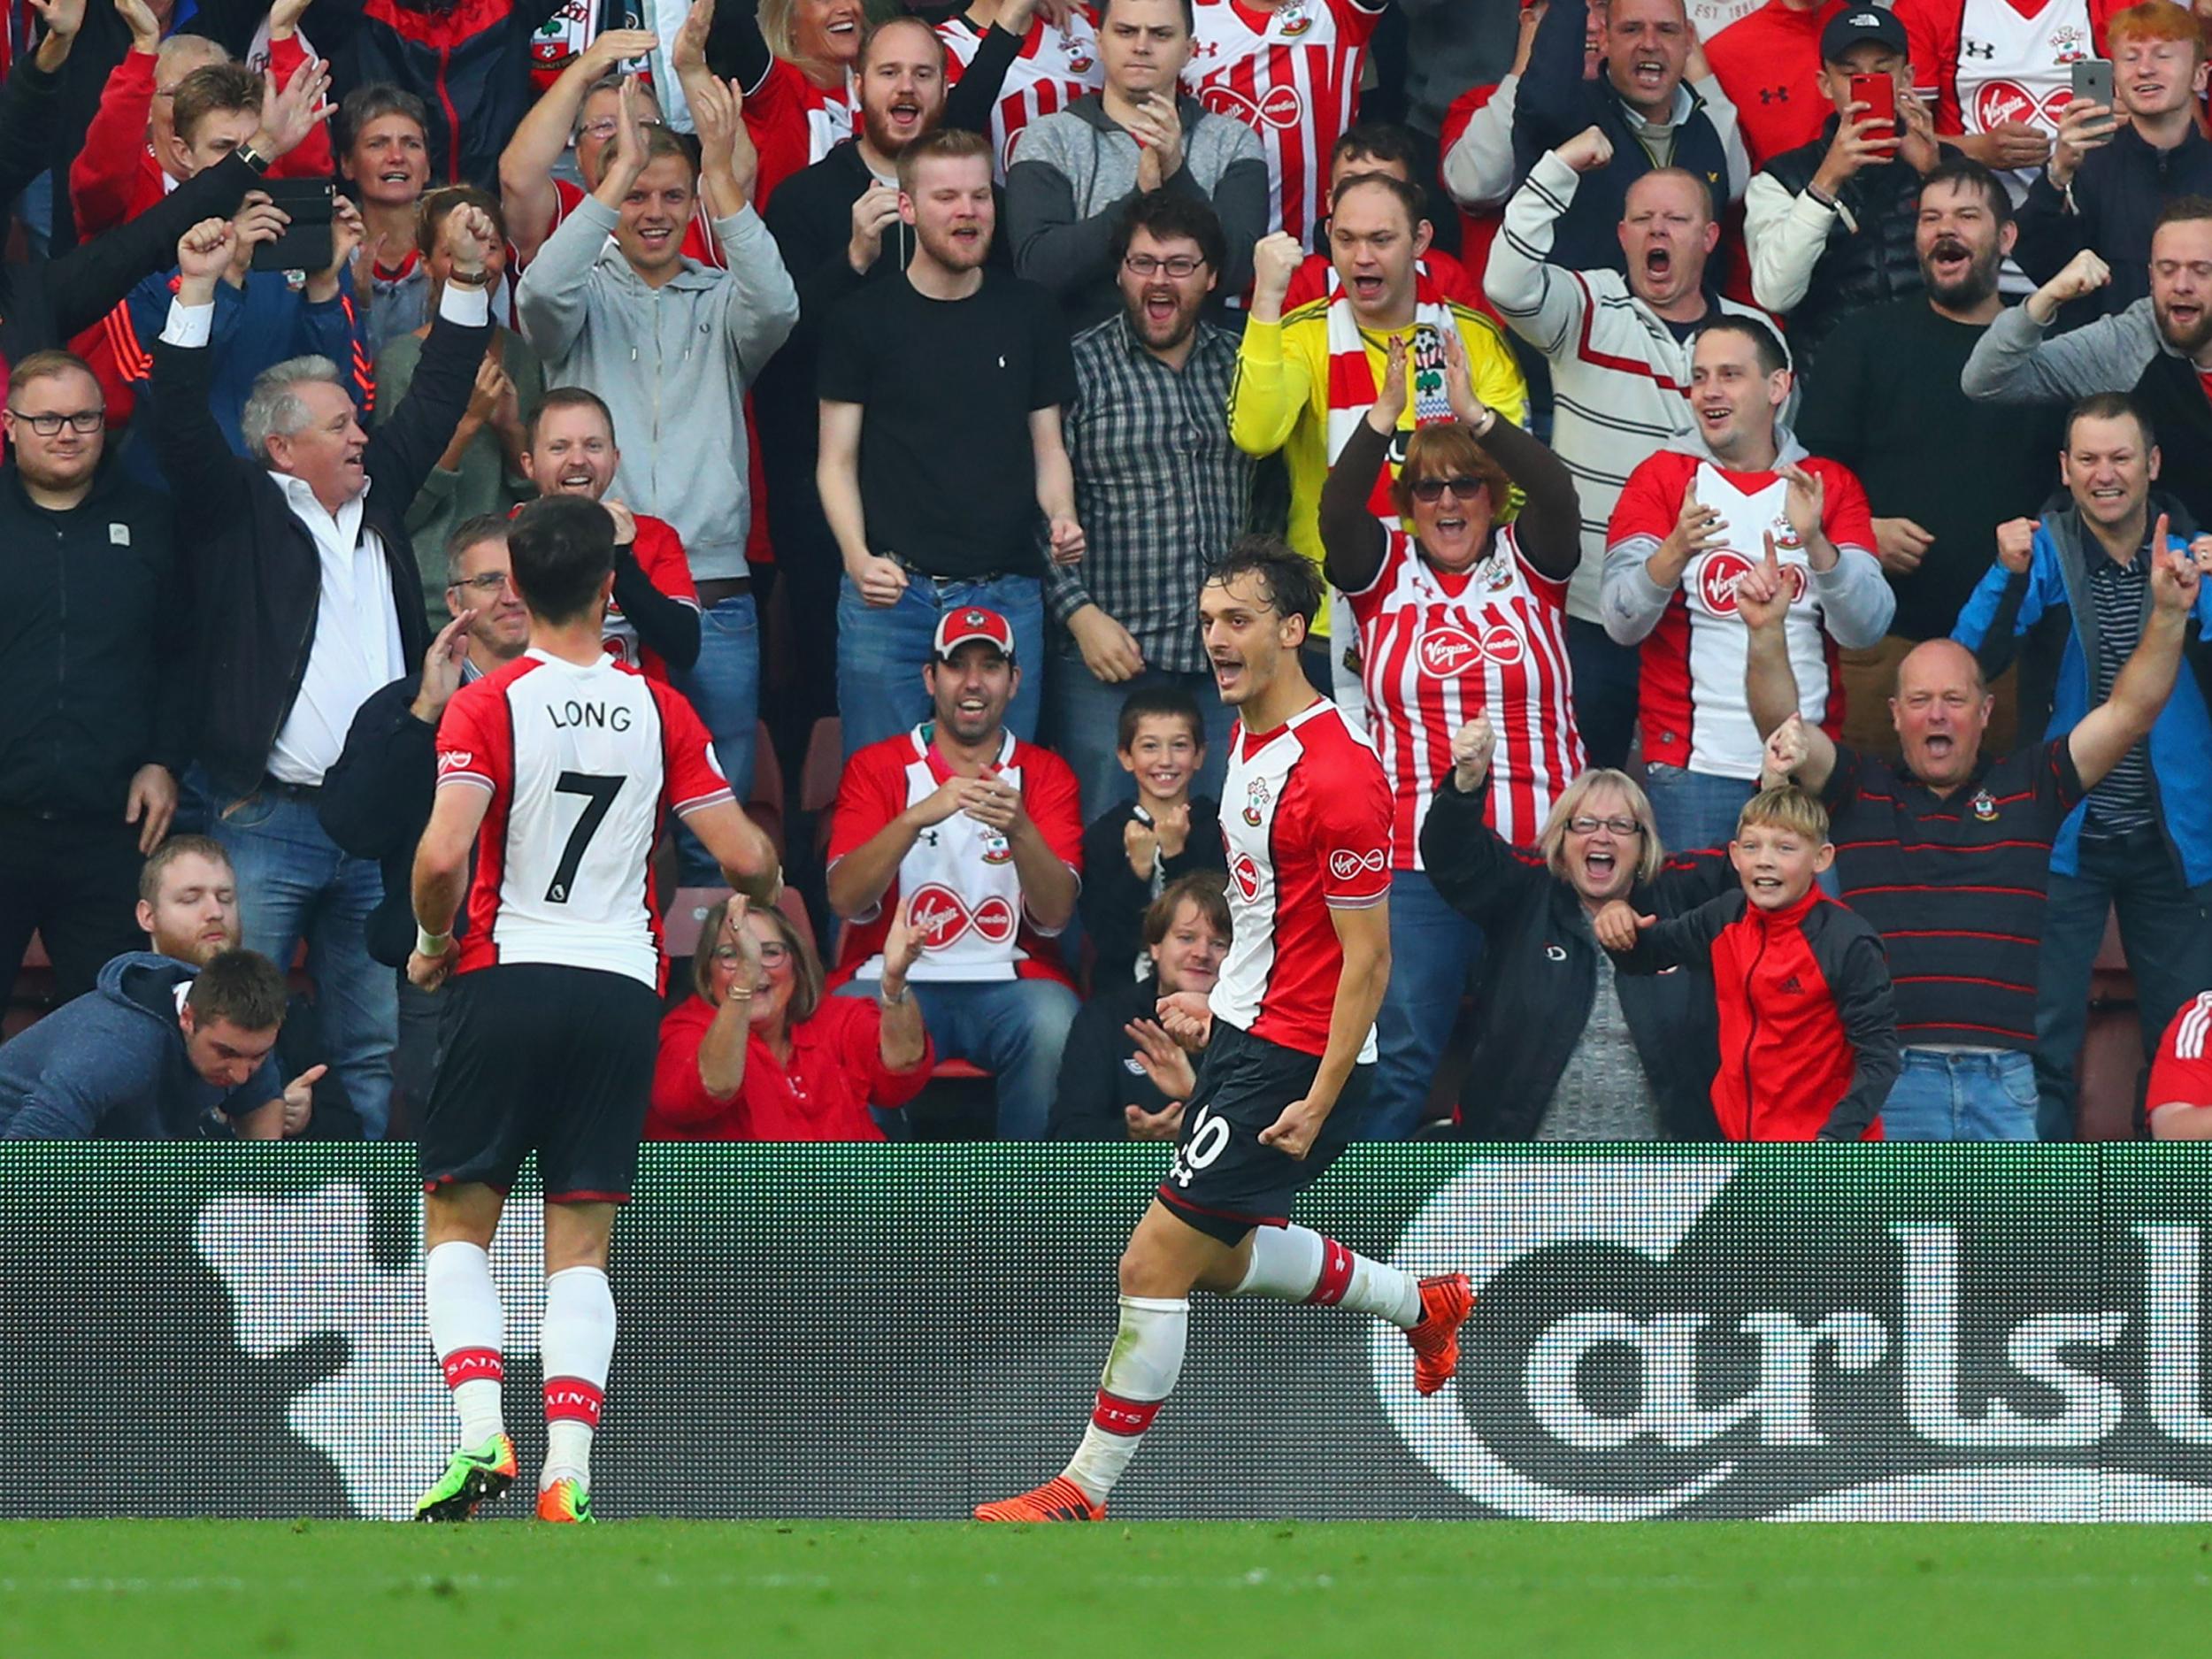
[[[606,1241],[630,1197],[661,1020],[653,845],[672,810],[730,885],[772,905],[774,845],[730,799],[679,695],[604,650],[615,522],[577,495],[531,502],[507,538],[529,650],[456,692],[416,852],[407,978],[453,967],[447,1055],[422,1117],[422,1290],[460,1449],[416,1520],[467,1520],[515,1478],[500,1416],[504,1314],[491,1234],[529,1152],[546,1194],[546,1464],[538,1517],[591,1520],[591,1436],[615,1352]]]

